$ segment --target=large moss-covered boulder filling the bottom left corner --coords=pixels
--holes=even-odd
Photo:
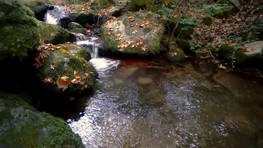
[[[64,120],[35,110],[22,98],[0,92],[1,148],[84,148]]]

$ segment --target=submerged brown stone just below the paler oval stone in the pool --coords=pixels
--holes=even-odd
[[[159,107],[163,104],[163,94],[161,90],[150,90],[142,99],[142,104],[150,107]]]

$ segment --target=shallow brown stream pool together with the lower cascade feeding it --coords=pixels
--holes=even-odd
[[[81,38],[99,78],[62,117],[86,148],[263,148],[262,78],[198,59],[102,58],[97,38]]]

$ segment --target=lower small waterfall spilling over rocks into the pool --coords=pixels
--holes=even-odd
[[[82,40],[84,39],[84,40]],[[79,41],[78,41],[79,40]],[[76,39],[75,44],[85,47],[91,54],[92,59],[96,59],[99,57],[98,43],[96,43],[98,37],[85,37]]]

